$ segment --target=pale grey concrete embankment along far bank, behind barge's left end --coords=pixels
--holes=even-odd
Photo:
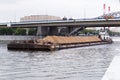
[[[0,43],[9,43],[11,41],[19,41],[19,40],[33,40],[35,36],[8,36],[8,35],[1,35],[0,36]]]

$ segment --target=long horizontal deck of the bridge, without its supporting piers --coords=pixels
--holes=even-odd
[[[5,25],[5,24],[4,24]],[[3,25],[3,26],[4,26]],[[86,20],[56,20],[56,21],[40,21],[40,22],[16,22],[8,23],[6,27],[118,27],[120,19],[86,19]]]

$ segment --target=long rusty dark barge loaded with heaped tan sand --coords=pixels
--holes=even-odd
[[[43,39],[12,42],[7,45],[7,48],[8,50],[54,51],[66,48],[110,44],[112,42],[111,38],[102,39],[101,36],[47,36]]]

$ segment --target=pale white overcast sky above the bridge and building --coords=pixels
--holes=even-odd
[[[0,0],[0,22],[19,21],[28,15],[92,18],[103,14],[103,4],[120,11],[119,0]]]

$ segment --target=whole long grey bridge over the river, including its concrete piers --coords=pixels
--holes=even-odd
[[[87,19],[73,19],[73,20],[44,20],[33,22],[9,22],[1,23],[0,27],[11,28],[37,28],[37,35],[58,35],[59,30],[66,28],[65,32],[68,34],[76,28],[82,30],[86,27],[120,27],[120,12],[109,13],[106,15],[114,16],[114,19],[104,19],[103,16],[97,18]],[[80,28],[81,27],[81,28]],[[76,30],[77,31],[77,30]]]

